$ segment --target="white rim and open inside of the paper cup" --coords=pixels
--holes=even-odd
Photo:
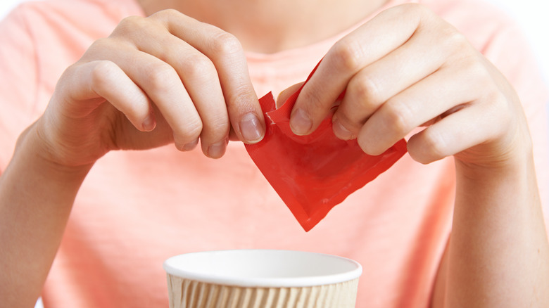
[[[173,276],[241,287],[305,287],[351,281],[362,267],[352,259],[296,250],[216,250],[167,259]]]

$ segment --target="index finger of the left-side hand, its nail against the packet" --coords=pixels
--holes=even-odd
[[[158,15],[170,32],[187,41],[212,60],[229,119],[234,131],[246,143],[256,143],[265,135],[265,120],[251,84],[244,49],[238,39],[219,28],[198,22],[177,11]],[[192,29],[192,31],[189,31]]]

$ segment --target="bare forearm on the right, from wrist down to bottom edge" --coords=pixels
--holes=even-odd
[[[457,162],[434,307],[549,307],[548,239],[533,165],[526,159],[488,170]]]

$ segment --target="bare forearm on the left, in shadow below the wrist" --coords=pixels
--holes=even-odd
[[[91,167],[68,169],[44,160],[30,131],[0,177],[0,300],[6,307],[34,307]]]

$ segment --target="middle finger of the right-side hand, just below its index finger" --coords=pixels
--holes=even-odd
[[[450,50],[448,44],[436,40],[419,33],[355,74],[333,117],[336,136],[353,139],[382,103],[441,68]],[[434,47],[426,49],[429,44]]]

